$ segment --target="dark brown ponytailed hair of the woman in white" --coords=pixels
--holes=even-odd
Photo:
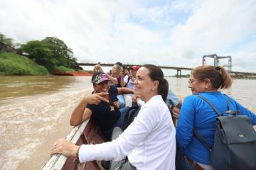
[[[149,69],[149,77],[153,81],[159,81],[159,87],[157,88],[157,93],[160,94],[164,101],[167,99],[168,91],[169,91],[169,84],[166,79],[164,79],[163,71],[153,65],[153,64],[145,64],[143,67]]]

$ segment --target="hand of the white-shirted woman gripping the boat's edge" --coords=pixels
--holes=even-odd
[[[66,157],[76,157],[79,146],[74,145],[70,140],[59,139],[54,142],[50,154],[64,154]]]

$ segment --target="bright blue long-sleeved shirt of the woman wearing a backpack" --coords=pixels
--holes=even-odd
[[[208,99],[220,113],[228,111],[227,95],[219,91],[200,93],[200,95]],[[249,116],[252,125],[256,125],[254,113],[241,106],[233,98],[227,97],[230,101],[230,110],[240,110],[241,115]],[[201,164],[210,164],[210,152],[197,137],[193,136],[193,128],[198,130],[209,147],[213,147],[216,116],[217,113],[213,111],[213,108],[198,96],[187,96],[182,103],[176,127],[176,141],[186,156]]]

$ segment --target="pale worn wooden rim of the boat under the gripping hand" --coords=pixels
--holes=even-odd
[[[88,120],[83,122],[81,125],[75,126],[73,130],[70,131],[70,133],[65,137],[65,139],[70,140],[75,144],[80,135],[82,134],[83,130],[85,129],[86,125],[88,123]],[[68,158],[65,157],[63,154],[54,154],[52,155],[46,164],[41,168],[41,170],[58,170],[62,169],[63,165],[65,164],[65,161]]]

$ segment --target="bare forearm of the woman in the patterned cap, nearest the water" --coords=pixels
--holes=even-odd
[[[85,98],[80,101],[78,106],[74,109],[71,118],[70,118],[70,125],[80,125],[82,123],[82,115],[85,111],[85,108],[87,106],[87,101],[85,101]]]

